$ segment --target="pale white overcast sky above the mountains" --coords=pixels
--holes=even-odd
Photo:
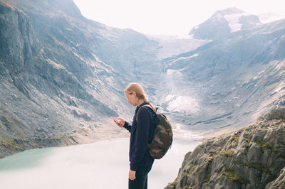
[[[284,15],[281,0],[73,0],[86,18],[151,35],[187,35],[216,11],[237,7],[247,13]]]

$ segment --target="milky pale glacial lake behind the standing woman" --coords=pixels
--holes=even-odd
[[[177,177],[185,153],[199,142],[175,139],[149,173],[148,188]],[[0,159],[2,189],[128,188],[128,138],[68,147],[38,148]]]

